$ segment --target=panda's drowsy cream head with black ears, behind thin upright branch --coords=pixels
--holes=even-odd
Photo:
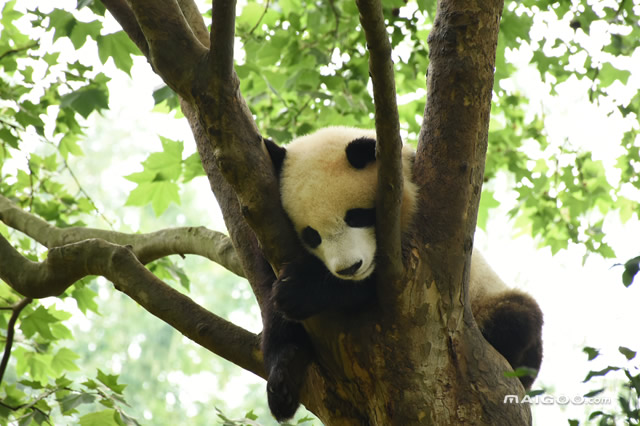
[[[286,148],[265,141],[280,179],[282,205],[304,247],[343,280],[375,269],[377,164],[375,132],[329,127]],[[415,200],[407,179],[413,153],[405,149],[403,228]]]

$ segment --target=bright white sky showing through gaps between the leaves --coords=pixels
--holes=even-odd
[[[41,3],[41,8],[45,7],[42,2],[35,0],[21,1],[21,5],[37,3]],[[61,3],[66,6],[74,4],[73,1],[58,2],[56,7],[61,7]],[[3,1],[0,0],[0,7],[2,4]],[[566,23],[556,24],[551,21],[551,24],[547,24],[546,18],[548,17],[544,14],[536,16],[534,39],[542,31],[558,31],[559,34],[563,34],[568,28]],[[118,29],[112,20],[107,28],[108,31]],[[592,46],[593,51],[598,52],[604,42],[606,34],[596,38]],[[585,83],[577,79],[569,79],[558,87],[559,95],[550,98],[547,94],[549,90],[540,81],[537,71],[526,65],[529,54],[525,49],[519,55],[513,56],[514,61],[520,66],[520,71],[507,84],[524,93],[531,105],[539,106],[539,111],[544,111],[545,127],[550,141],[568,139],[576,146],[591,150],[594,159],[603,160],[605,165],[615,162],[620,154],[618,141],[629,122],[622,120],[619,114],[607,115],[609,105],[591,105],[586,99]],[[85,47],[81,55],[87,61],[98,63],[97,54],[91,46]],[[640,69],[640,52],[636,50],[624,66],[630,70]],[[111,62],[104,66],[104,70],[113,77],[109,85],[110,111],[105,113],[104,118],[94,115],[89,123],[96,123],[102,129],[109,126],[118,135],[126,135],[126,140],[112,141],[113,144],[135,143],[141,150],[137,155],[121,158],[115,164],[105,164],[104,169],[95,171],[93,178],[97,182],[110,181],[114,184],[113,195],[116,198],[121,197],[123,204],[133,184],[118,177],[139,171],[139,163],[147,153],[160,149],[156,135],[185,140],[185,154],[193,152],[195,145],[185,120],[171,120],[165,115],[150,112],[153,107],[151,93],[161,82],[144,60],[136,60],[132,70],[133,83],[124,73],[115,71]],[[619,87],[619,96],[634,94],[638,89],[640,74],[636,72],[630,77],[626,88]],[[635,125],[637,126],[637,121]],[[101,137],[105,138],[102,140],[108,140],[108,135]],[[19,164],[16,166],[20,167]],[[616,174],[607,178],[615,182]],[[581,247],[569,247],[568,250],[552,257],[549,249],[536,249],[536,243],[530,237],[516,238],[513,224],[507,220],[506,214],[515,202],[513,192],[508,189],[509,185],[510,180],[504,175],[499,176],[494,183],[495,196],[502,204],[491,212],[487,232],[478,232],[476,246],[484,252],[487,260],[507,283],[530,292],[538,300],[545,314],[544,360],[534,389],[545,388],[548,394],[556,397],[583,395],[599,387],[595,383],[600,383],[581,384],[589,370],[600,370],[608,365],[626,365],[624,357],[618,353],[618,346],[640,351],[640,333],[637,332],[640,279],[636,278],[636,283],[626,289],[620,279],[622,268],[612,267],[615,263],[613,260],[589,256],[583,265],[584,251]],[[212,199],[206,180],[196,179],[191,190],[202,194],[202,197],[197,199],[199,205],[193,208],[206,212]],[[640,201],[637,193],[630,196],[638,197],[636,199]],[[144,224],[139,223],[135,209],[124,211],[126,213],[122,217],[123,223],[134,230],[141,226],[144,228]],[[212,218],[203,213],[202,217],[206,223],[192,225],[223,229],[219,216]],[[640,255],[640,221],[637,216],[626,224],[621,224],[615,215],[610,215],[605,220],[604,232],[619,261]],[[254,331],[259,330],[256,317],[238,313],[232,319]],[[129,356],[135,359],[136,344],[139,342],[137,343],[133,337],[132,342]],[[582,347],[585,345],[601,349],[602,355],[595,361],[587,362],[586,355],[582,353]],[[117,364],[122,361],[126,362],[114,360],[114,365],[110,368],[117,369]],[[180,385],[176,390],[179,394],[189,392],[197,395],[200,390],[211,390],[210,374],[191,378],[174,376],[172,380]],[[246,389],[244,383],[254,380],[259,379],[248,373],[243,374],[234,384],[234,389],[225,389],[225,393],[232,399],[228,401],[229,406],[242,404],[243,389]],[[608,389],[603,396],[610,396],[612,404],[617,404],[616,389]],[[175,395],[167,395],[167,402],[172,401],[175,402]],[[180,395],[180,401],[188,402],[188,395]],[[586,417],[585,409],[585,406],[571,404],[537,405],[533,408],[534,424],[560,424],[565,423],[567,418],[582,420]]]

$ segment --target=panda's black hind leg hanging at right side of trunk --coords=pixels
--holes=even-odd
[[[509,290],[490,297],[473,307],[474,317],[483,336],[512,368],[527,367],[535,371],[542,363],[542,312],[526,293]],[[521,376],[529,389],[535,376]]]

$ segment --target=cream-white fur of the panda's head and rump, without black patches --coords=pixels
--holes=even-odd
[[[282,204],[296,232],[310,226],[320,233],[322,243],[307,247],[335,276],[363,280],[375,268],[374,228],[351,228],[344,222],[349,209],[375,206],[377,165],[353,168],[345,154],[349,142],[361,137],[375,139],[375,132],[349,127],[328,127],[291,142],[281,172]],[[416,186],[411,180],[413,151],[403,148],[404,194],[402,228],[410,222],[416,204]],[[362,261],[350,277],[338,271]],[[507,286],[477,250],[471,260],[470,295],[472,302],[496,295]]]

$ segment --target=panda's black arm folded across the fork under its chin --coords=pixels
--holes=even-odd
[[[284,266],[273,285],[275,308],[287,318],[303,320],[321,312],[353,311],[375,299],[375,277],[341,280],[315,256],[304,254]]]

